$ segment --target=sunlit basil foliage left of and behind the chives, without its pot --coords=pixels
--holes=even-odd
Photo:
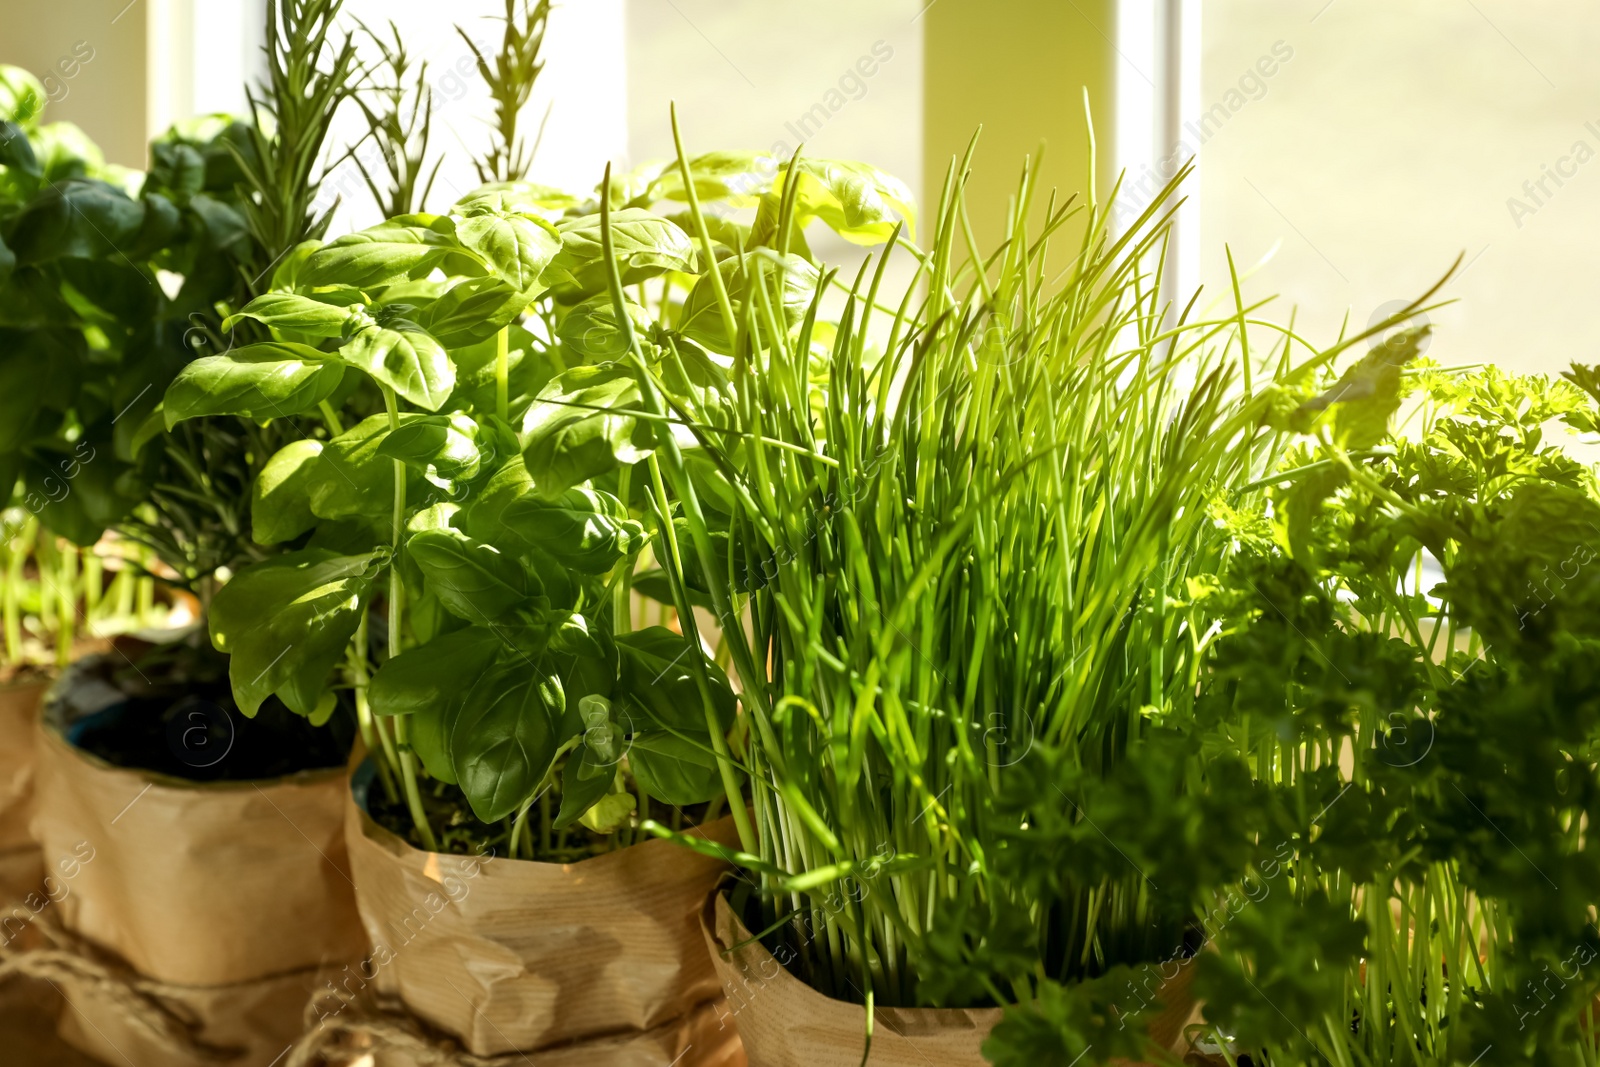
[[[533,854],[534,805],[547,840],[741,789],[736,701],[694,617],[715,569],[706,509],[726,549],[733,498],[707,430],[675,413],[734,395],[738,322],[770,314],[747,299],[747,261],[781,267],[776,314],[798,328],[826,277],[803,222],[864,242],[909,216],[870,168],[750,154],[602,187],[579,203],[498,182],[446,214],[309,242],[234,317],[272,339],[197,360],[166,392],[168,426],[322,422],[326,440],[266,464],[254,536],[290,550],[232,576],[211,637],[245,713],[277,694],[322,718],[347,683],[424,848],[459,825],[440,803],[512,819],[512,854],[518,832]],[[728,208],[715,234],[672,206],[696,192]],[[344,426],[363,392],[381,411]],[[677,629],[635,629],[638,595]]]

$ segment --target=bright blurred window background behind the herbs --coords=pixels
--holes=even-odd
[[[141,166],[171,122],[243,109],[264,3],[0,0],[0,62],[45,80],[46,118]],[[502,11],[346,3],[352,27],[392,19],[429,62],[438,203],[475,184],[464,147],[491,107],[453,26],[498,40]],[[1205,286],[1202,306],[1230,301],[1232,251],[1248,294],[1282,294],[1328,341],[1461,256],[1430,355],[1555,371],[1595,358],[1597,51],[1592,0],[568,0],[525,120],[542,126],[531,178],[573,190],[606,160],[670,155],[677,101],[691,154],[805,141],[898,174],[925,206],[982,126],[974,227],[994,240],[1024,155],[1043,146],[1046,186],[1086,187],[1088,90],[1101,195],[1125,174],[1141,206],[1194,157],[1171,270]],[[339,229],[376,218],[354,165],[322,192]]]

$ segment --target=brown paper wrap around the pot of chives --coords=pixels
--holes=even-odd
[[[861,1005],[826,997],[790,974],[762,942],[750,941],[722,889],[704,902],[701,933],[728,997],[723,1022],[738,1027],[749,1067],[861,1067]],[[1182,968],[1162,990],[1170,1006],[1150,1024],[1157,1045],[1181,1041],[1194,1013],[1192,971]],[[872,1067],[981,1067],[981,1046],[1000,1016],[1000,1008],[877,1008]]]

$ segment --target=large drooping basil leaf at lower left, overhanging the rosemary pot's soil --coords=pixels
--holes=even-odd
[[[344,657],[366,598],[376,553],[306,549],[254,563],[211,600],[211,643],[229,654],[234,699],[254,715],[274,693],[310,715],[328,672]]]

